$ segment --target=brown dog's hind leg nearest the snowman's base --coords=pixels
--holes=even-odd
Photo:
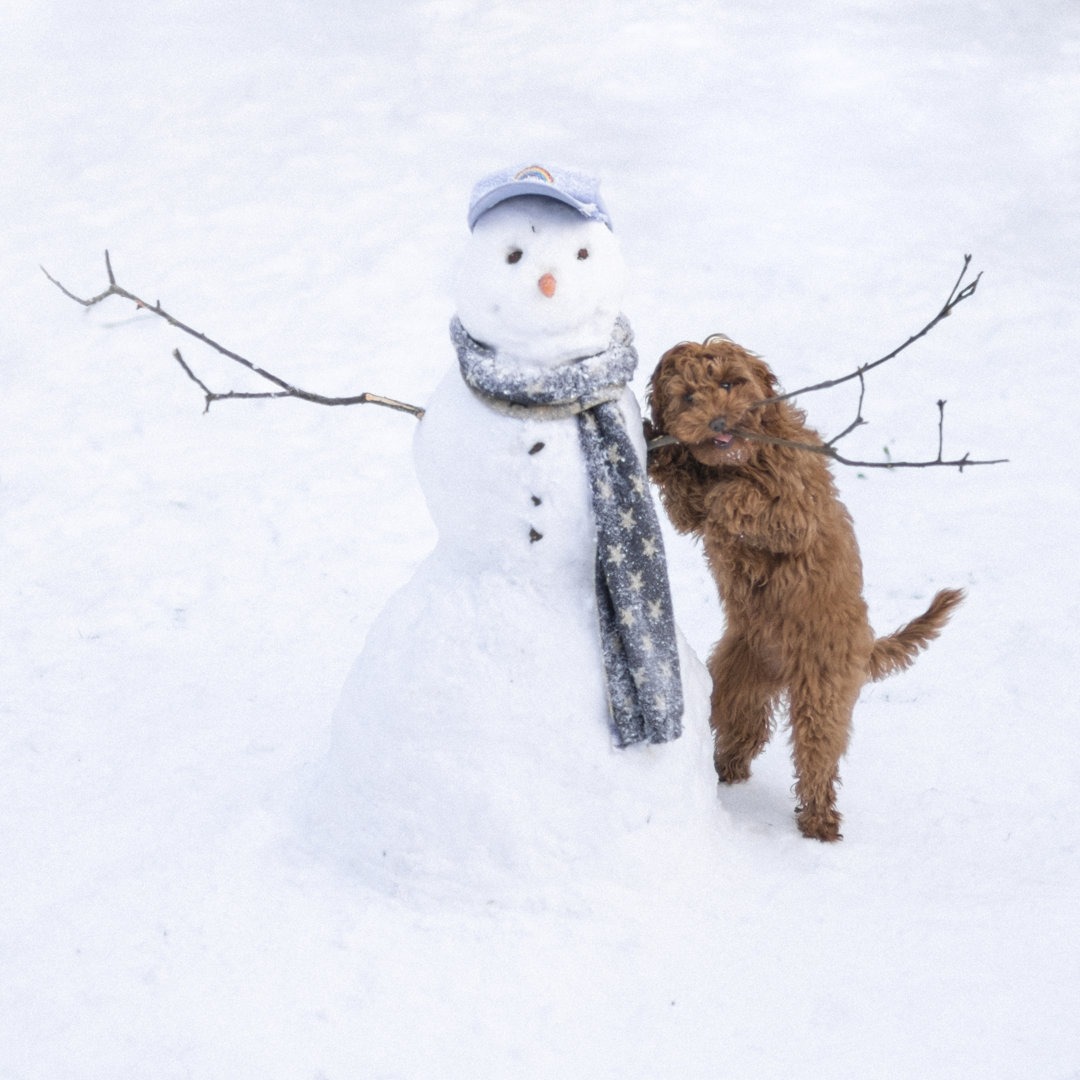
[[[726,784],[750,779],[751,761],[772,734],[772,713],[781,686],[746,640],[726,634],[708,659],[713,676],[716,774]]]

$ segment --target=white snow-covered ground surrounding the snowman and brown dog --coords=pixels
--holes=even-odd
[[[960,0],[67,2],[0,16],[0,1075],[1080,1075],[1080,15]],[[845,840],[784,739],[715,846],[370,888],[297,808],[348,671],[435,534],[415,421],[202,399],[244,374],[427,400],[471,185],[599,175],[643,357],[724,332],[787,387],[974,297],[870,380],[838,480],[880,631],[969,598],[868,688]],[[850,388],[802,404],[824,431]],[[667,538],[699,653],[720,615]],[[485,759],[485,768],[490,767]]]

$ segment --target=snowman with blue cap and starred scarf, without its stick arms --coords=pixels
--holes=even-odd
[[[496,174],[469,226],[457,361],[414,446],[437,543],[368,632],[321,785],[325,836],[390,888],[550,880],[707,842],[717,813],[596,181]]]

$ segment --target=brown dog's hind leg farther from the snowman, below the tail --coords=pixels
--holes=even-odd
[[[836,785],[858,697],[858,686],[829,686],[824,678],[812,687],[791,688],[798,823],[802,835],[812,839],[841,839]]]

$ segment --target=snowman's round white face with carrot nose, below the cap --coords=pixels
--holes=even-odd
[[[605,225],[519,195],[476,222],[458,273],[458,318],[505,360],[564,363],[607,348],[625,278]]]

